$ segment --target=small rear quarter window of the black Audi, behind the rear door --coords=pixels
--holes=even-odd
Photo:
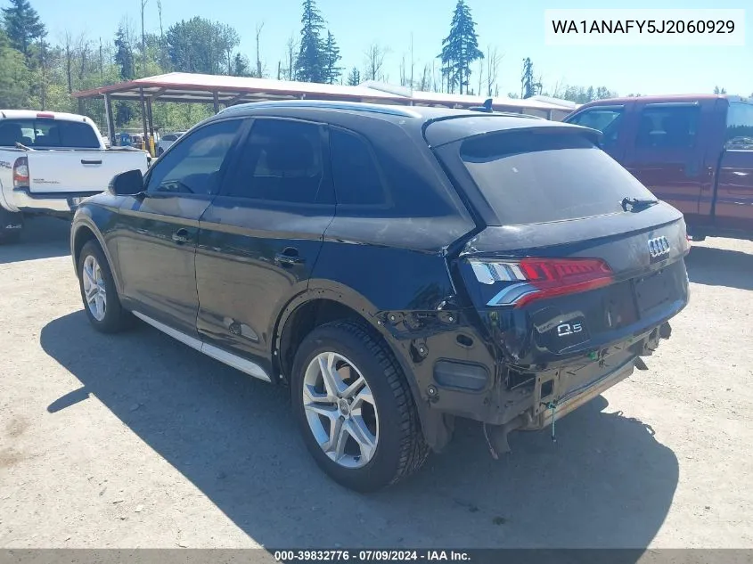
[[[330,148],[338,204],[374,206],[387,203],[380,168],[362,137],[332,128]]]

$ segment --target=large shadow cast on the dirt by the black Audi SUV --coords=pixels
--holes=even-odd
[[[251,380],[148,327],[94,332],[79,311],[41,333],[45,352],[267,547],[647,546],[669,510],[675,454],[603,397],[494,461],[476,424],[404,483],[357,495],[318,470],[285,388]],[[134,405],[140,405],[132,411]]]

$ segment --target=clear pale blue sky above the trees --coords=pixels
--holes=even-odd
[[[318,0],[317,5],[342,54],[342,66],[363,67],[364,51],[377,42],[389,48],[386,72],[398,82],[399,64],[409,60],[411,34],[415,73],[431,61],[446,37],[456,0]],[[5,0],[0,0],[5,5]],[[63,33],[86,33],[93,40],[111,41],[119,21],[129,18],[140,29],[140,0],[31,0],[45,21],[52,41]],[[544,88],[556,83],[607,86],[619,94],[711,92],[725,87],[730,94],[753,93],[753,8],[746,13],[744,47],[551,47],[544,45],[547,8],[745,8],[740,0],[630,0],[621,4],[583,0],[467,0],[477,23],[479,46],[495,45],[504,57],[500,66],[500,94],[520,92],[524,57],[534,63]],[[255,60],[255,27],[264,23],[261,59],[274,76],[284,60],[285,42],[300,30],[299,0],[162,0],[163,25],[199,15],[232,25],[241,35],[240,50]],[[157,0],[148,0],[146,28],[159,31]],[[476,76],[475,78],[478,78]],[[474,77],[471,77],[473,84]]]

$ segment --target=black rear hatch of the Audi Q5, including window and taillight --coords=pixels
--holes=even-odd
[[[440,126],[427,127],[430,143]],[[591,130],[544,121],[435,133],[446,143],[434,151],[483,225],[451,270],[509,363],[585,360],[597,378],[686,305],[682,214],[598,149]]]

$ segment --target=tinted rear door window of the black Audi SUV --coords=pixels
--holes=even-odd
[[[319,126],[257,119],[226,192],[239,198],[314,203],[322,178]]]

